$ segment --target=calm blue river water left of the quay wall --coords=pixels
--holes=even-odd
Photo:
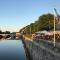
[[[26,60],[21,40],[1,40],[0,60]]]

